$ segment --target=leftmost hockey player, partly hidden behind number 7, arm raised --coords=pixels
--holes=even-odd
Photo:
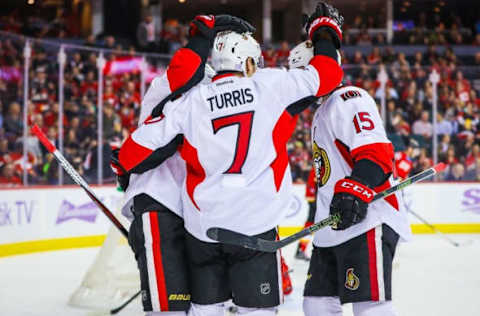
[[[202,79],[209,46],[218,31],[252,32],[239,18],[221,15],[197,16],[191,24],[186,47],[173,56],[169,68],[152,81],[141,107],[139,122],[161,116],[169,100],[185,93]],[[189,62],[190,61],[190,62]],[[213,69],[210,71],[213,72]],[[208,78],[207,78],[208,79]],[[205,79],[204,79],[205,80]],[[156,160],[149,162],[156,166]],[[123,173],[114,151],[112,167],[128,201],[122,213],[132,219],[129,232],[148,315],[186,315],[190,308],[190,284],[185,256],[185,229],[180,192],[185,180],[185,162],[178,153],[142,174]]]

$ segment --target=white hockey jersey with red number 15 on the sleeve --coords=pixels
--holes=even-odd
[[[363,89],[347,86],[334,91],[315,112],[312,146],[318,185],[315,222],[318,222],[329,216],[335,183],[351,174],[355,159],[361,155],[362,158],[379,161],[383,157],[372,157],[381,152],[376,148],[392,145],[373,98]],[[385,159],[393,159],[393,147],[388,151],[391,151],[392,157]],[[375,191],[383,191],[393,184],[391,176]],[[404,240],[410,239],[410,226],[401,199],[402,195],[397,192],[371,203],[365,220],[346,230],[336,231],[330,227],[319,230],[315,234],[314,245],[335,246],[381,223],[389,225]]]

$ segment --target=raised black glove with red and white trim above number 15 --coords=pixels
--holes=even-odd
[[[310,16],[304,17],[305,31],[313,43],[330,38],[339,49],[342,43],[343,16],[328,3],[319,2]]]

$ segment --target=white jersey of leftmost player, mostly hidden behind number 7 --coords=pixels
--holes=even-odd
[[[142,101],[139,124],[150,116],[153,108],[170,92],[166,73],[161,77],[153,79]],[[165,205],[178,216],[182,216],[181,189],[184,180],[185,162],[178,153],[175,153],[155,169],[148,170],[142,174],[132,174],[129,186],[125,192],[125,201],[127,203],[122,209],[122,214],[131,218],[130,207],[133,197],[145,193]]]

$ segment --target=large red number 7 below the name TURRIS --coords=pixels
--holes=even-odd
[[[230,167],[224,173],[242,173],[242,167],[247,159],[248,148],[250,147],[253,114],[254,111],[248,111],[222,116],[212,120],[214,134],[217,134],[217,132],[224,127],[232,125],[238,126],[235,157]]]

